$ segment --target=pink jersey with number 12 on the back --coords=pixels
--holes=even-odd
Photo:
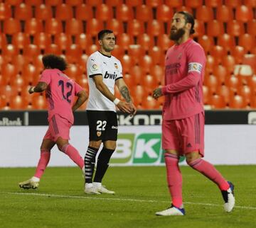
[[[73,79],[59,69],[45,69],[39,81],[48,84],[46,101],[48,103],[48,121],[58,114],[73,124],[72,106],[75,95],[82,90]]]

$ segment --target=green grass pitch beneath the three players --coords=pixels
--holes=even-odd
[[[37,190],[18,188],[34,169],[0,169],[0,227],[255,227],[256,166],[217,166],[235,184],[236,207],[223,211],[218,188],[183,166],[184,217],[156,217],[170,205],[164,167],[112,167],[104,184],[116,195],[85,195],[80,170],[51,168]]]

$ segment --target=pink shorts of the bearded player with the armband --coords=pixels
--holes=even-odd
[[[198,151],[204,156],[204,113],[181,120],[163,120],[162,148],[174,149],[180,155]]]

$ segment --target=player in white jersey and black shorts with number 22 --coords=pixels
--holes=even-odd
[[[98,33],[100,50],[94,52],[87,61],[87,76],[89,82],[89,99],[87,103],[87,119],[89,123],[89,146],[85,153],[85,193],[114,194],[102,186],[102,178],[109,166],[110,157],[117,144],[117,113],[116,108],[124,113],[134,115],[136,108],[129,95],[129,89],[122,77],[122,65],[111,55],[114,50],[115,37],[112,30],[101,30]],[[125,101],[119,101],[114,96],[114,86],[117,86]],[[95,169],[95,157],[97,169]],[[93,182],[92,182],[93,178]]]

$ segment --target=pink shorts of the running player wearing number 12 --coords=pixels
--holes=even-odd
[[[53,142],[56,142],[58,137],[62,137],[63,139],[70,139],[71,126],[72,124],[67,119],[55,114],[50,119],[48,130],[43,139],[50,139]]]

